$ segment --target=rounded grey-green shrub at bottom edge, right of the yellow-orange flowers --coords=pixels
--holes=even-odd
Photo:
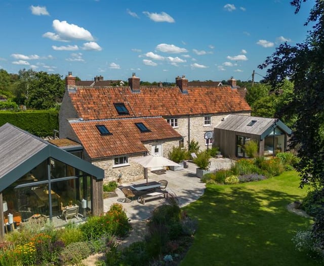
[[[64,265],[77,264],[90,256],[91,250],[87,242],[75,242],[66,246],[60,255]]]

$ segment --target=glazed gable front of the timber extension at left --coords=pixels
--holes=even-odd
[[[67,206],[69,202],[79,206],[80,212],[84,210],[81,217],[86,210],[91,212],[91,178],[60,161],[45,160],[7,187],[3,191],[3,201],[8,207],[4,211],[5,223],[8,214],[13,214],[17,227],[41,217],[51,219],[56,225],[64,219],[61,205]],[[82,209],[85,201],[86,209]]]

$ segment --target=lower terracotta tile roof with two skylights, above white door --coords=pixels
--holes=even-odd
[[[147,149],[142,141],[182,137],[160,117],[69,122],[92,159],[143,153]],[[143,123],[150,132],[141,133],[135,123]],[[112,135],[101,135],[96,125],[104,125]]]

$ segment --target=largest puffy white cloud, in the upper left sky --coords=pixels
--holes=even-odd
[[[90,31],[79,27],[74,24],[69,24],[66,21],[59,21],[58,19],[53,20],[53,28],[56,33],[46,32],[43,37],[47,37],[54,41],[67,42],[70,40],[84,40],[93,41],[94,38]]]

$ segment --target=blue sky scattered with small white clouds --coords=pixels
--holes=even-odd
[[[262,79],[285,41],[305,40],[313,1],[0,1],[0,68],[175,82]]]

